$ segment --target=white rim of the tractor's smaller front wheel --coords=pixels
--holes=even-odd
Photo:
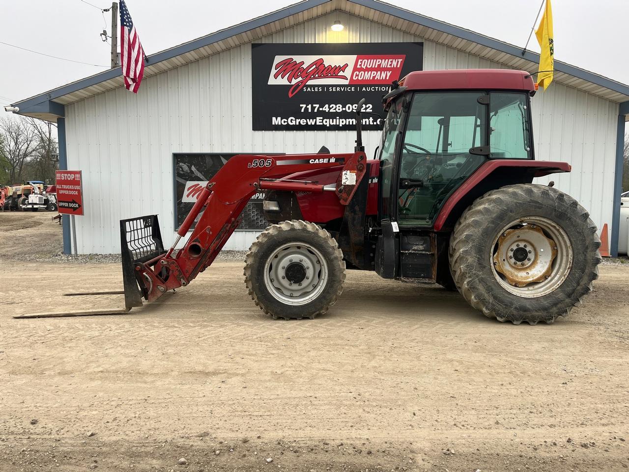
[[[317,249],[303,242],[284,244],[264,264],[264,284],[286,305],[315,300],[328,281],[328,265]]]

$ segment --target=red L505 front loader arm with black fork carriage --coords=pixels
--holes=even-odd
[[[148,228],[149,223],[142,226],[142,237],[134,236],[133,224],[151,217],[121,222],[126,306],[142,305],[134,282],[139,286],[143,298],[153,301],[169,290],[186,286],[210,266],[238,227],[242,211],[255,193],[267,189],[313,193],[333,190],[340,202],[347,205],[365,174],[365,160],[362,151],[353,154],[235,155],[216,172],[199,194],[192,210],[177,230],[175,244],[167,251],[161,247],[161,237],[159,244],[155,244],[155,230]],[[313,169],[338,169],[335,189],[324,189],[323,184],[315,181],[286,178],[296,172]],[[190,237],[174,256],[175,246],[186,237],[195,221]],[[126,231],[125,225],[128,225]],[[138,247],[142,249],[142,243],[138,243],[142,240],[152,244],[154,252],[137,250]],[[130,263],[126,264],[125,250],[132,256],[132,260],[128,261]]]

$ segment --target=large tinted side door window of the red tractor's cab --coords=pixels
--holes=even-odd
[[[401,142],[400,225],[432,225],[452,191],[487,159],[470,152],[487,145],[487,106],[479,103],[479,96],[486,94],[413,96]]]

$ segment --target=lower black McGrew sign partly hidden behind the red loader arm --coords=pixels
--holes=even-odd
[[[174,154],[175,229],[184,222],[209,179],[234,155],[236,154]],[[269,226],[262,210],[263,199],[262,193],[257,193],[250,199],[243,211],[239,230],[262,231]],[[196,221],[192,228],[194,225]]]

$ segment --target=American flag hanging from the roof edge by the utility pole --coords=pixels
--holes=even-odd
[[[120,57],[125,88],[138,93],[144,76],[144,50],[125,0],[120,0]]]

